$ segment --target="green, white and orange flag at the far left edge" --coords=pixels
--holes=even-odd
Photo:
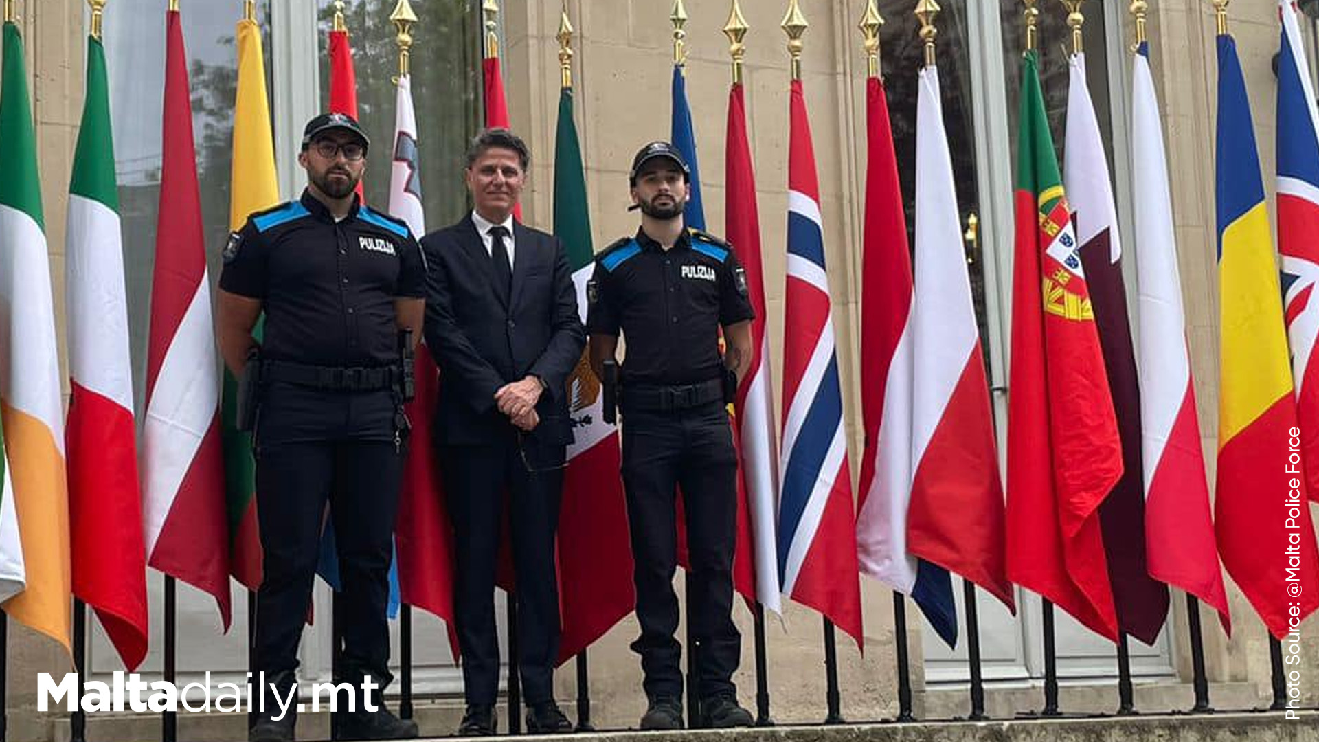
[[[55,309],[22,37],[13,22],[4,24],[0,162],[0,403],[26,565],[26,589],[4,610],[67,650],[69,490]]]

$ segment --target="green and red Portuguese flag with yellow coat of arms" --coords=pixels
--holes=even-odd
[[[1022,66],[1008,578],[1116,642],[1099,504],[1122,475],[1122,445],[1034,51]]]

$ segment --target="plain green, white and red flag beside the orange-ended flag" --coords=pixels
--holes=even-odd
[[[74,595],[95,609],[124,665],[146,656],[146,547],[106,49],[87,40],[87,98],[65,261],[69,297],[69,518]]]

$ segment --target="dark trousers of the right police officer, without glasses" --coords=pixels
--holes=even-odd
[[[648,696],[682,697],[682,647],[677,569],[677,489],[682,487],[691,556],[692,634],[700,698],[736,693],[732,675],[741,635],[732,622],[733,549],[737,543],[737,455],[728,413],[720,403],[681,412],[637,412],[624,407],[623,483],[636,562],[637,619]]]

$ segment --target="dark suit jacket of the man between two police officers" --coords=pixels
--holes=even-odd
[[[476,224],[462,222],[421,240],[429,267],[426,346],[439,366],[437,441],[481,445],[506,440],[512,422],[495,392],[528,374],[545,380],[532,437],[572,442],[568,374],[582,358],[586,327],[576,288],[558,238],[513,224],[513,289],[509,306],[493,285],[493,268]]]

